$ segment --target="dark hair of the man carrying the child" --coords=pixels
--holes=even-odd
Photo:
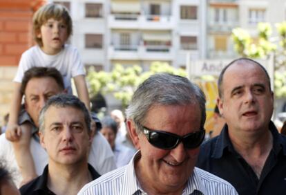
[[[59,71],[57,71],[56,68],[32,67],[28,71],[26,71],[23,75],[23,80],[20,89],[21,94],[22,95],[25,94],[26,86],[32,78],[41,78],[41,77],[52,77],[59,85],[59,88],[64,90],[63,77],[61,77],[61,73],[59,73]]]

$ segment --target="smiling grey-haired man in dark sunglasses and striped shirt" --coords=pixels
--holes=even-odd
[[[79,194],[237,194],[225,180],[194,167],[204,139],[205,98],[187,78],[149,77],[135,91],[126,118],[139,151]]]

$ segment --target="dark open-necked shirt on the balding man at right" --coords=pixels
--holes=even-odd
[[[278,133],[273,122],[269,123],[269,129],[273,136],[273,148],[260,178],[234,150],[227,125],[219,136],[200,147],[196,166],[227,180],[241,195],[286,194],[286,136]]]

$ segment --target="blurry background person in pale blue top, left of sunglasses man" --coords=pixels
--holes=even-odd
[[[124,145],[115,142],[117,135],[117,123],[113,118],[106,116],[102,119],[102,129],[100,130],[102,135],[106,138],[111,149],[115,155],[115,162],[117,167],[127,165],[131,160],[135,151],[125,147]]]

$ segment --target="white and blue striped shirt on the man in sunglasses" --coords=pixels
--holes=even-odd
[[[138,182],[134,161],[141,157],[140,151],[131,159],[128,165],[115,169],[86,184],[78,195],[143,195],[146,194]],[[236,189],[226,180],[214,176],[207,171],[195,167],[193,174],[187,180],[182,194],[187,195],[234,195]]]

